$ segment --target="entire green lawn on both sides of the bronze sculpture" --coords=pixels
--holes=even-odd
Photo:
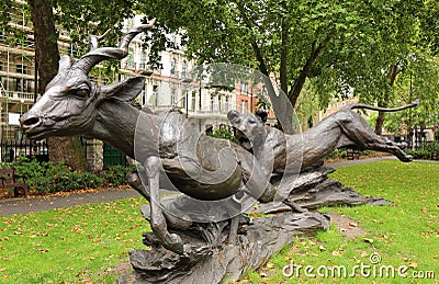
[[[349,238],[331,225],[315,238],[296,239],[240,283],[439,282],[438,177],[439,163],[429,162],[337,169],[333,179],[395,205],[322,208],[351,217],[365,235]],[[0,283],[114,283],[114,268],[127,261],[127,252],[145,248],[142,232],[150,228],[139,214],[142,203],[128,198],[0,218]],[[371,263],[371,255],[380,262]],[[365,268],[363,275],[360,269],[351,273],[356,265]],[[331,277],[340,268],[347,275]],[[430,279],[415,280],[415,272]]]

